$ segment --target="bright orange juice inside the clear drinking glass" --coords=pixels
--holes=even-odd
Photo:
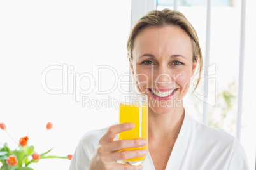
[[[120,103],[119,122],[133,122],[134,129],[119,134],[121,139],[145,138],[148,140],[148,104],[147,103]],[[124,150],[148,149],[148,145]],[[142,163],[146,156],[125,160],[129,164]]]

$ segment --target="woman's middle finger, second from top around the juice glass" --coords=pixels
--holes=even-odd
[[[147,143],[145,138],[136,138],[132,140],[117,140],[104,145],[106,152],[114,152],[124,148],[143,147]]]

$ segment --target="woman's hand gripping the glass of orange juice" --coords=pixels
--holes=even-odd
[[[138,170],[142,166],[132,166],[128,164],[118,164],[117,160],[125,160],[134,157],[143,157],[146,155],[147,150],[122,150],[124,148],[136,148],[146,145],[146,139],[138,138],[132,140],[118,140],[113,141],[118,133],[129,131],[134,128],[134,123],[122,123],[110,126],[108,131],[99,140],[99,145],[90,160],[89,170]],[[118,152],[119,150],[122,150]]]

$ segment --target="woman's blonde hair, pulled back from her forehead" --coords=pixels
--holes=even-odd
[[[130,60],[132,61],[132,49],[134,46],[134,40],[138,33],[141,32],[141,30],[145,29],[146,27],[164,27],[166,25],[175,25],[180,27],[185,32],[187,32],[188,36],[190,36],[192,40],[193,62],[196,62],[196,60],[198,59],[197,61],[199,63],[199,79],[197,79],[196,84],[197,88],[201,79],[201,71],[203,69],[202,52],[196,30],[191,25],[191,23],[188,22],[187,18],[178,11],[173,11],[169,9],[164,9],[162,11],[153,10],[140,18],[132,28],[129,39],[127,41],[128,58],[130,58]],[[194,90],[196,88],[194,88]]]

